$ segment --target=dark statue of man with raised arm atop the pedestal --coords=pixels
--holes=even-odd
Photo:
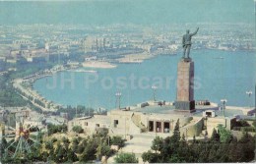
[[[189,33],[189,29],[187,29],[187,33],[182,37],[182,47],[183,47],[183,58],[186,58],[185,55],[187,54],[187,58],[189,58],[190,47],[191,47],[191,38],[193,35],[197,34],[199,27],[197,27],[194,33]]]

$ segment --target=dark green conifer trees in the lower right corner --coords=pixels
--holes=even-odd
[[[156,137],[152,149],[142,154],[143,161],[150,163],[223,163],[249,162],[254,159],[255,137],[247,133],[237,140],[223,126],[214,130],[208,140],[193,139],[187,142],[180,137],[178,122],[172,137]]]

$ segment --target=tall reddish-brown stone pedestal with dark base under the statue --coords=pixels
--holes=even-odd
[[[175,109],[194,112],[194,62],[190,58],[178,63],[177,95]]]

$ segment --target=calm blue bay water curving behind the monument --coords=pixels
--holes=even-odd
[[[256,55],[247,51],[193,50],[195,62],[195,100],[208,99],[227,105],[254,105]],[[88,69],[94,73],[59,72],[39,79],[33,88],[46,99],[62,105],[86,105],[113,109],[116,92],[121,92],[121,106],[153,99],[174,101],[177,63],[180,55],[157,56],[141,64],[118,64],[115,69]],[[252,90],[249,97],[245,92]]]

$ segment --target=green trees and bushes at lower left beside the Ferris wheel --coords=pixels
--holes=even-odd
[[[65,127],[53,126],[50,129],[65,130]],[[37,137],[38,141],[32,144],[32,151],[27,152],[23,158],[12,158],[4,155],[1,158],[2,163],[32,163],[32,162],[49,162],[49,163],[90,163],[100,160],[102,156],[113,155],[116,151],[110,146],[119,142],[119,137],[107,137],[102,135],[94,135],[92,137]],[[112,140],[112,141],[111,141]],[[114,141],[113,141],[114,140]],[[2,150],[9,146],[13,140],[7,142],[3,138]],[[123,144],[120,144],[123,145]],[[15,151],[15,149],[12,149]],[[2,151],[4,152],[4,151]]]

